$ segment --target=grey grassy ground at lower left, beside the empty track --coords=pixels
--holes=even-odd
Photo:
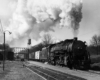
[[[5,70],[3,71],[0,64],[0,80],[43,80],[35,73],[30,72],[26,67],[23,67],[21,61],[6,61]]]

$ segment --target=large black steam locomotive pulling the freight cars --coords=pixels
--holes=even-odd
[[[76,37],[52,44],[49,46],[49,63],[71,69],[89,69],[90,55],[86,48],[86,43]]]

